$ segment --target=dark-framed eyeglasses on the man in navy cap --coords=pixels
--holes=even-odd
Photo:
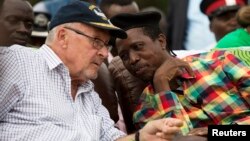
[[[71,31],[74,31],[76,34],[79,34],[79,35],[82,35],[82,36],[85,36],[85,37],[89,38],[90,40],[92,40],[93,46],[94,46],[96,49],[98,49],[98,50],[102,49],[103,47],[106,47],[108,50],[111,49],[111,45],[106,44],[104,41],[102,41],[102,40],[99,39],[99,38],[91,37],[91,36],[86,35],[85,33],[81,32],[81,31],[79,31],[79,30],[77,30],[77,29],[73,29],[73,28],[68,27],[68,26],[65,26],[64,28],[69,29],[69,30],[71,30]]]

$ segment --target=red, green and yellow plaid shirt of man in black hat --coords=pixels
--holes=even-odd
[[[250,124],[250,68],[228,51],[188,56],[195,78],[183,74],[182,93],[147,86],[134,113],[143,126],[164,117],[182,119],[182,133],[211,124]]]

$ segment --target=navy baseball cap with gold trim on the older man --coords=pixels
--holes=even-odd
[[[114,26],[98,7],[84,1],[74,1],[61,7],[52,18],[49,30],[58,25],[71,22],[85,23],[107,30],[112,37],[127,38],[126,32]]]

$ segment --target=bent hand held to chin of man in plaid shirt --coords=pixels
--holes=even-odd
[[[190,76],[194,76],[194,72],[187,62],[169,57],[154,74],[153,84],[156,92],[170,91],[177,87],[173,80],[181,76],[183,70],[186,70]]]

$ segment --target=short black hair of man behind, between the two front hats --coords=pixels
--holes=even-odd
[[[126,5],[133,3],[133,2],[134,2],[134,0],[101,0],[100,9],[103,10],[106,7],[110,7],[110,5],[112,5],[112,4],[126,6]]]

